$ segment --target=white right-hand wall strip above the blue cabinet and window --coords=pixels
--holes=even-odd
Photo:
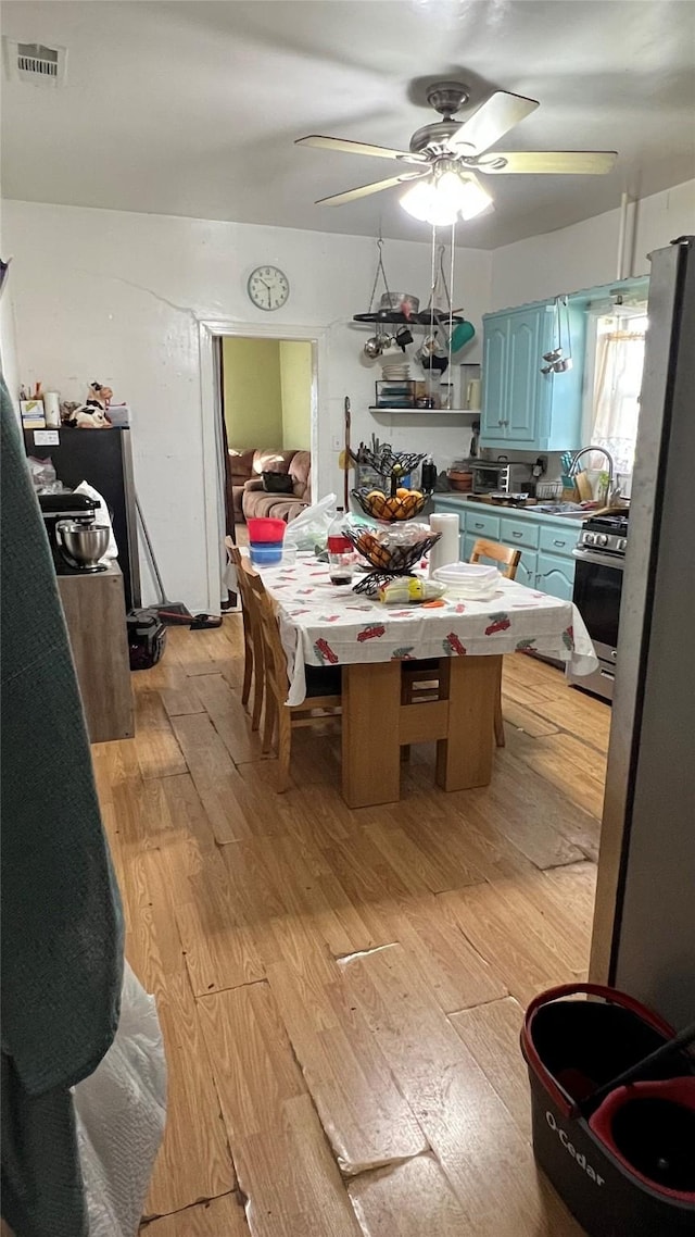
[[[636,226],[633,228],[633,223]],[[542,301],[616,278],[620,210],[571,228],[505,245],[492,255],[492,308]],[[695,181],[643,198],[629,208],[627,275],[647,275],[647,254],[695,233]],[[631,254],[631,256],[632,256]]]

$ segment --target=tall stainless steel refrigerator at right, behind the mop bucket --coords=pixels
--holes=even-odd
[[[650,255],[591,975],[695,1018],[695,238]]]

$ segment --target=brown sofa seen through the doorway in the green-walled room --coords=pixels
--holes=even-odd
[[[292,494],[267,494],[263,473],[284,473],[292,477]],[[231,500],[231,502],[230,502]],[[228,508],[242,523],[258,516],[289,523],[312,501],[310,452],[254,449],[228,453]]]

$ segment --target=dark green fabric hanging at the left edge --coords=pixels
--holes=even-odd
[[[64,1092],[96,1068],[114,1038],[122,920],[53,563],[4,382],[0,403],[1,999],[11,1064],[2,1070],[10,1092],[2,1102],[11,1134],[21,1132],[22,1115],[27,1121],[22,1145],[6,1148],[4,1139],[2,1212],[17,1237],[75,1237],[82,1220],[73,1216],[72,1228],[68,1218],[59,1222],[52,1200],[32,1199],[40,1210],[48,1206],[42,1227],[40,1210],[27,1211],[23,1226],[12,1220],[6,1199],[21,1202],[27,1183],[40,1181],[41,1158],[46,1179],[61,1157],[67,1162],[56,1180],[75,1179]],[[41,1137],[31,1100],[61,1090]],[[22,1155],[26,1173],[17,1180]]]

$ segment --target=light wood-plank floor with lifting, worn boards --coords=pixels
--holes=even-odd
[[[93,748],[169,1097],[150,1237],[579,1237],[529,1143],[538,990],[584,977],[610,710],[506,659],[492,784],[351,811],[340,740],[273,789],[239,615],[169,628],[135,741]]]

